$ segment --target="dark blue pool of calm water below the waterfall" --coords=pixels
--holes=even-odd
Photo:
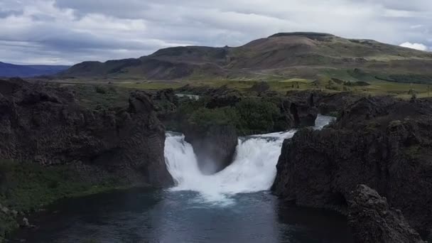
[[[352,242],[345,217],[293,207],[268,192],[227,204],[190,191],[134,189],[60,201],[31,217],[26,242]]]

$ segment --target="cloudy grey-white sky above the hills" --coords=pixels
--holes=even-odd
[[[0,61],[73,64],[316,31],[432,50],[432,0],[0,0]]]

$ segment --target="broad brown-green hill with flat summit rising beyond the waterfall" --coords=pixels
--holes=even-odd
[[[432,53],[327,33],[277,33],[234,48],[185,46],[161,49],[137,59],[84,62],[61,75],[148,80],[338,77],[432,82]]]

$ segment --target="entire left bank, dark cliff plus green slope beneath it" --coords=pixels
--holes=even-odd
[[[87,109],[67,88],[19,79],[0,80],[0,92],[0,200],[8,212],[109,188],[172,185],[165,129],[146,92],[113,109]],[[2,223],[2,234],[13,225]]]

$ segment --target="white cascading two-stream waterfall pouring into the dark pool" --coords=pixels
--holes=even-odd
[[[315,129],[322,129],[332,119],[318,115]],[[176,183],[172,190],[192,190],[200,193],[205,202],[228,203],[230,195],[269,190],[284,139],[295,133],[291,130],[240,138],[232,164],[214,175],[201,173],[193,148],[182,134],[168,133],[165,161]]]

